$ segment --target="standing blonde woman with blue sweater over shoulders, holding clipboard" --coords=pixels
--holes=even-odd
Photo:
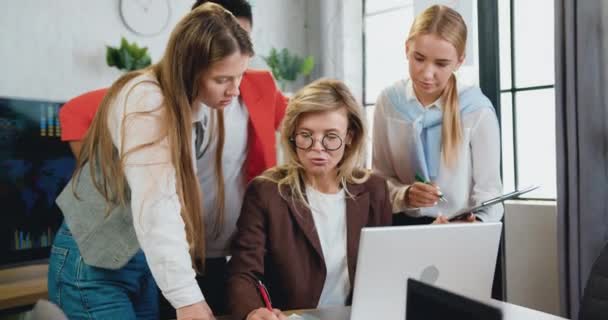
[[[445,215],[502,192],[492,104],[455,75],[466,37],[456,11],[427,8],[405,43],[410,78],[386,88],[376,104],[373,167],[389,181],[393,212],[404,212],[409,223],[445,223]],[[495,205],[463,221],[502,215],[502,205]]]

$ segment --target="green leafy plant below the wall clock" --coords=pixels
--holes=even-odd
[[[152,59],[147,47],[140,48],[135,42],[129,43],[121,37],[119,48],[106,46],[106,62],[110,67],[133,71],[149,66]]]

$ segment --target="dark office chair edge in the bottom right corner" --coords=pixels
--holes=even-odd
[[[605,320],[608,315],[608,243],[591,267],[579,320]]]

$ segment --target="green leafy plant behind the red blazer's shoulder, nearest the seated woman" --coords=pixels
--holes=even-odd
[[[280,51],[275,48],[270,49],[270,54],[264,57],[264,61],[283,91],[287,83],[295,81],[299,75],[309,75],[315,66],[315,59],[312,56],[302,58],[290,53],[287,48]]]

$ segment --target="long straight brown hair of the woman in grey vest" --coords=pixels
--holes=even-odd
[[[164,56],[157,64],[127,73],[112,84],[84,138],[74,172],[74,177],[78,177],[88,162],[93,183],[106,199],[108,206],[125,206],[129,201],[124,173],[125,159],[135,151],[166,140],[170,146],[176,191],[181,204],[180,214],[185,223],[193,260],[199,257],[204,261],[205,257],[202,195],[194,172],[191,149],[193,102],[199,95],[199,84],[204,72],[214,63],[235,52],[252,56],[253,46],[247,32],[238,25],[232,14],[211,3],[192,10],[177,23]],[[159,107],[162,109],[163,128],[154,141],[129,150],[117,150],[108,130],[108,115],[112,108],[124,107],[115,105],[118,101],[117,95],[125,89],[129,81],[144,73],[151,73],[158,83],[142,81],[133,87],[143,83],[152,83],[159,87],[163,95],[163,103]],[[126,96],[128,94],[127,92]],[[158,110],[150,112],[154,111]],[[141,116],[141,112],[126,117],[131,116]],[[223,130],[220,132],[223,133]],[[125,121],[121,128],[122,141],[125,139],[124,133]],[[223,141],[223,137],[219,139]],[[218,148],[218,151],[221,152],[221,148]],[[219,170],[221,171],[221,166]]]

